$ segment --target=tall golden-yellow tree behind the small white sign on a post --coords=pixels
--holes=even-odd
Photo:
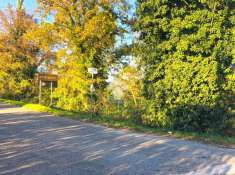
[[[97,93],[102,93],[108,76],[107,57],[120,32],[117,19],[125,11],[122,0],[38,0],[44,16],[53,14],[53,30],[57,35],[57,62],[60,76],[55,97],[65,109],[88,110],[91,76],[89,67],[97,67]],[[116,7],[114,8],[114,6]],[[96,97],[97,98],[97,97]]]

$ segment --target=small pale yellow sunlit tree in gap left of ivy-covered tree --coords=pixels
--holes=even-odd
[[[135,64],[125,65],[114,74],[108,86],[108,92],[111,103],[109,109],[116,117],[140,122],[144,107],[141,94],[142,77],[142,72],[137,69]]]

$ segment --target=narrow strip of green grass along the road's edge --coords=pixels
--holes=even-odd
[[[32,109],[34,111],[46,112],[54,116],[62,116],[74,120],[80,120],[83,122],[91,122],[100,124],[112,128],[128,129],[135,132],[157,134],[162,136],[180,138],[185,140],[194,140],[203,143],[216,144],[220,146],[226,146],[235,148],[235,137],[221,135],[218,133],[197,133],[197,132],[183,132],[183,131],[171,131],[162,128],[153,128],[137,124],[132,120],[117,119],[112,116],[91,116],[86,112],[71,112],[51,107],[42,106],[39,104],[26,104],[24,102],[0,99],[0,102],[5,102],[13,105],[22,106],[23,108]]]

